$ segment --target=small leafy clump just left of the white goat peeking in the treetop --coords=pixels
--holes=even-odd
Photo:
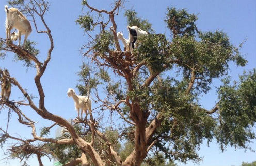
[[[113,47],[113,34],[109,31],[104,31],[96,36],[93,49],[99,52],[100,56],[108,53],[109,47]]]

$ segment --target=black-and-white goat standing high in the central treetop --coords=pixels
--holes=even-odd
[[[148,35],[148,33],[144,30],[141,30],[137,26],[127,26],[128,31],[129,31],[129,50],[132,51],[137,44],[137,38],[139,36],[145,36]]]

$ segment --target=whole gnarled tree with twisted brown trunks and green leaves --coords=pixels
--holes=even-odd
[[[36,58],[38,50],[31,46],[33,42],[28,41],[23,49],[1,39],[4,53],[14,52],[26,65],[35,65],[37,69],[38,105],[15,76],[5,76],[18,87],[25,101],[1,99],[1,112],[16,114],[21,124],[31,127],[33,136],[18,138],[1,128],[2,144],[7,139],[18,142],[8,149],[12,157],[23,160],[36,155],[40,165],[42,156],[58,159],[65,165],[154,165],[164,158],[170,162],[199,161],[197,148],[204,139],[210,142],[215,138],[223,151],[227,145],[246,149],[247,143],[255,138],[251,128],[256,121],[256,70],[244,73],[233,85],[229,79],[223,79],[217,91],[219,101],[213,109],[206,110],[198,103],[200,95],[210,90],[214,78],[228,74],[228,62],[245,66],[246,60],[226,33],[201,32],[195,24],[197,15],[167,8],[165,22],[171,35],[166,36],[156,35],[147,20],[137,17],[134,10],[127,10],[127,25],[149,32],[130,52],[121,49],[117,38],[115,18],[124,1],[115,1],[109,11],[83,1],[83,9],[90,11],[76,20],[89,38],[82,47],[83,56],[97,68],[83,63],[79,71],[81,84],[77,88],[82,95],[93,96],[98,107],[89,113],[89,119],[76,119],[72,125],[47,110],[40,81],[54,48],[50,27],[44,20],[50,11],[49,3],[44,0],[9,3],[26,11],[36,31],[46,33],[50,40],[42,63]],[[38,19],[45,31],[37,29]],[[102,88],[104,97],[99,95]],[[37,135],[33,117],[25,115],[21,105],[53,124]],[[106,114],[120,118],[116,122],[118,127],[102,125]],[[54,125],[65,127],[65,132],[58,138],[45,137]]]

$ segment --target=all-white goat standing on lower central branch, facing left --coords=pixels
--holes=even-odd
[[[91,100],[87,98],[86,96],[81,96],[81,95],[76,95],[75,90],[69,88],[67,91],[68,97],[72,97],[75,101],[75,109],[77,110],[78,113],[78,118],[83,119],[83,112],[86,114],[86,119],[87,119],[87,109],[89,112],[91,112]],[[81,110],[81,117],[80,117],[80,110]]]

